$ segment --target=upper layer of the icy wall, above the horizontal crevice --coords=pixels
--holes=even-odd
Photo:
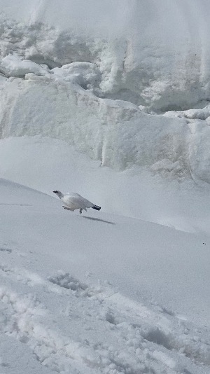
[[[1,56],[96,63],[101,95],[155,111],[209,99],[208,0],[1,0]]]

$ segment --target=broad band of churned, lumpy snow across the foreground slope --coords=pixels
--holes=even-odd
[[[207,335],[201,329],[196,338],[187,322],[177,320],[172,313],[148,309],[115,293],[110,286],[89,286],[66,272],[59,271],[45,280],[7,265],[1,265],[0,270],[30,286],[26,296],[0,288],[1,333],[26,344],[37,361],[52,371],[156,374],[158,362],[161,374],[196,374],[196,367],[192,370],[188,363],[209,365]],[[44,305],[30,295],[38,282],[43,287],[34,290],[41,291]],[[56,289],[59,298],[54,300]],[[55,308],[63,313],[64,325],[57,319]],[[76,331],[73,340],[71,330]],[[176,370],[178,356],[183,361],[180,370]]]

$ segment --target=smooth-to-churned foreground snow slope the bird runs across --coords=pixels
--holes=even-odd
[[[209,372],[202,235],[69,214],[4,179],[0,195],[3,373]]]

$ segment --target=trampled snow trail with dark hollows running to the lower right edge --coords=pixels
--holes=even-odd
[[[87,300],[83,303],[83,306],[88,309],[88,316],[108,322],[119,336],[127,337],[126,344],[132,349],[137,347],[143,349],[146,342],[151,349],[167,349],[176,354],[181,352],[195,362],[209,365],[210,340],[208,338],[202,340],[200,334],[195,341],[194,333],[186,334],[187,322],[179,321],[172,311],[165,312],[161,308],[153,312],[119,293],[113,293],[110,287],[90,288],[69,273],[59,272],[58,275],[48,279],[52,283],[75,291],[75,296],[91,296],[89,303]],[[130,323],[127,323],[128,319]]]

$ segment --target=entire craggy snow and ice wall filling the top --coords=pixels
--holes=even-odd
[[[0,2],[0,136],[209,182],[208,1],[97,3]]]

